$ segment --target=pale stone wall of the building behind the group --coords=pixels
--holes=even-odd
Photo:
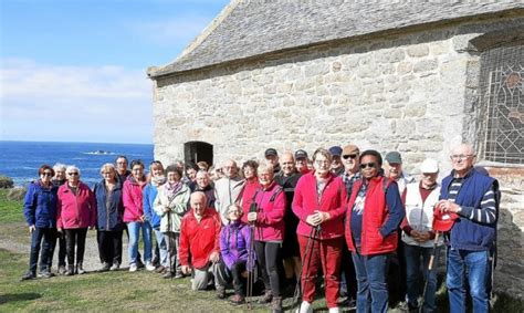
[[[507,24],[515,21],[339,41],[160,77],[154,95],[155,158],[184,159],[190,140],[212,144],[216,161],[262,158],[268,147],[312,153],[354,143],[360,149],[399,150],[412,174],[423,158],[436,158],[446,174],[450,148],[478,135],[471,126],[471,69],[478,69],[479,56],[469,42]],[[515,188],[522,192],[522,181]],[[522,215],[522,207],[509,212]],[[510,234],[509,250],[518,248],[511,253],[521,255],[514,262],[522,269],[522,240]],[[497,285],[514,285],[522,296],[522,272],[514,284],[515,272],[501,264]]]

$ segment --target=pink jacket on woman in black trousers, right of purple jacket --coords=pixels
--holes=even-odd
[[[282,187],[273,180],[266,189],[259,187],[255,192],[258,213],[254,240],[282,241],[285,228],[285,194]]]

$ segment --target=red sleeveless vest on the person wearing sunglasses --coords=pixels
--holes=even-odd
[[[377,176],[369,180],[369,186],[366,192],[366,199],[364,200],[364,212],[363,212],[363,232],[360,241],[360,253],[363,255],[371,255],[379,253],[387,253],[397,250],[398,244],[398,232],[395,231],[391,234],[382,238],[379,229],[386,223],[389,218],[389,209],[386,202],[385,189],[394,182],[388,180],[384,186],[384,176]],[[346,212],[346,242],[349,250],[356,251],[352,236],[352,210],[355,205],[363,180],[359,179],[353,186],[352,196],[347,202]]]

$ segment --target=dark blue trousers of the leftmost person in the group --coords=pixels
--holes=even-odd
[[[31,232],[31,252],[29,255],[29,271],[36,274],[36,263],[40,254],[40,272],[51,271],[54,247],[56,246],[57,232],[55,228],[36,227]],[[42,242],[43,239],[43,242]],[[40,251],[42,246],[42,251]]]

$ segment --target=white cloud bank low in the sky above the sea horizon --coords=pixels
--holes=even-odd
[[[0,138],[150,143],[145,71],[2,60]]]

